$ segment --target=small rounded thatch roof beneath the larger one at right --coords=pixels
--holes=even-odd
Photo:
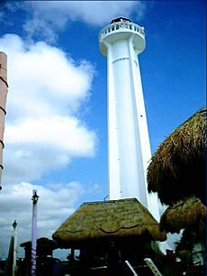
[[[160,219],[160,229],[178,233],[183,228],[192,228],[193,225],[197,228],[204,224],[205,216],[206,207],[199,198],[184,198],[166,208]]]

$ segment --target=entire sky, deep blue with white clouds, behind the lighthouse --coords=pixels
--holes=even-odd
[[[146,30],[139,56],[151,150],[205,105],[204,1],[26,1],[0,6],[8,55],[0,256],[14,219],[31,238],[38,189],[39,236],[84,201],[107,196],[106,59],[98,33],[125,16]]]

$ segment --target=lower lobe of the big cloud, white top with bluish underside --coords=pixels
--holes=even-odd
[[[7,124],[4,141],[4,181],[28,181],[65,167],[71,158],[93,156],[95,134],[75,117],[51,115]]]

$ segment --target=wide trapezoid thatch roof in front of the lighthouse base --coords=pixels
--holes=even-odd
[[[166,240],[156,219],[136,198],[82,204],[52,235],[62,247],[104,239],[107,236],[142,235],[148,231],[154,240]]]

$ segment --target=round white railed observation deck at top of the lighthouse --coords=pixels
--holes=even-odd
[[[99,33],[99,48],[103,56],[107,56],[107,45],[119,40],[132,37],[135,51],[145,49],[145,30],[144,27],[130,20],[113,20],[111,24],[105,26]]]

